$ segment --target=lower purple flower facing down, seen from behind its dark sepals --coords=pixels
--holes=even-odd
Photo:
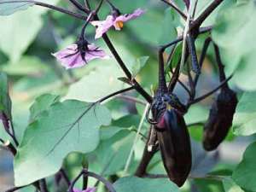
[[[61,65],[68,68],[83,67],[87,62],[94,59],[108,59],[109,56],[103,51],[96,47],[95,44],[70,44],[67,48],[62,49],[55,54]]]

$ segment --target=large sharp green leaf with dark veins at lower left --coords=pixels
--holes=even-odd
[[[99,143],[101,125],[108,125],[108,109],[96,103],[56,102],[25,131],[15,156],[15,185],[48,177],[61,168],[67,154],[88,153]]]

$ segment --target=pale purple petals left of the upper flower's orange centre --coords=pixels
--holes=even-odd
[[[100,21],[91,21],[91,25],[96,26],[96,36],[95,38],[102,38],[102,35],[105,32],[108,32],[108,29],[113,26],[113,15],[108,15],[106,20],[100,20]]]

